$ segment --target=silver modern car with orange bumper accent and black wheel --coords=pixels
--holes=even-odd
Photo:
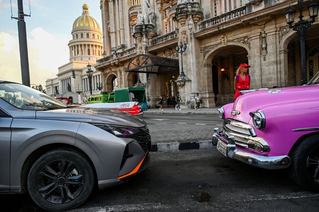
[[[70,107],[0,80],[0,193],[26,193],[41,208],[82,204],[94,186],[123,183],[149,165],[146,123],[130,114]]]

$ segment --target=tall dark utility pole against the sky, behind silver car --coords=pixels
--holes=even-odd
[[[11,17],[18,21],[18,37],[19,37],[19,49],[20,49],[20,65],[22,84],[30,87],[30,74],[29,74],[29,61],[27,55],[27,42],[26,42],[26,28],[24,22],[24,16],[30,16],[23,12],[22,0],[17,0],[18,4],[18,17]]]

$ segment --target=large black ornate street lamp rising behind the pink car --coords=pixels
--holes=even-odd
[[[304,0],[298,0],[299,3],[299,21],[295,22],[295,13],[296,9],[293,9],[289,6],[286,14],[286,22],[289,24],[289,27],[294,31],[297,31],[297,34],[300,37],[300,51],[301,51],[301,68],[302,68],[302,81],[301,84],[307,83],[307,67],[306,67],[306,44],[305,44],[305,34],[306,29],[311,26],[313,22],[316,21],[316,17],[318,16],[318,7],[319,4],[314,0],[311,0],[311,4],[308,6],[309,16],[312,18],[311,20],[304,20],[303,17],[303,2]]]

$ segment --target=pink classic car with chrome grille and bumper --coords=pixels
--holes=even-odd
[[[319,74],[307,85],[243,91],[219,110],[213,145],[226,157],[288,168],[298,185],[319,191]]]

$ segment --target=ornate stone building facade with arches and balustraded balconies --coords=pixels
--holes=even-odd
[[[309,4],[304,1],[305,19]],[[114,81],[142,84],[150,107],[159,95],[168,99],[179,91],[182,109],[193,108],[199,92],[202,107],[214,107],[234,101],[243,62],[251,65],[251,88],[300,85],[300,39],[286,22],[289,5],[298,17],[297,0],[100,0],[106,56],[95,68],[104,76],[103,90],[111,91]],[[317,17],[306,33],[308,80],[319,70],[318,29]],[[180,44],[186,44],[183,53],[176,50]],[[140,54],[178,58],[180,70],[131,72],[131,59]]]

